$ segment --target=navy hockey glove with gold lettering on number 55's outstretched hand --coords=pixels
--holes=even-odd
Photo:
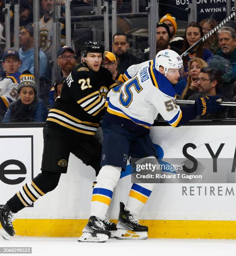
[[[221,102],[220,96],[206,96],[195,100],[195,107],[197,107],[197,115],[205,115],[216,113],[222,108],[219,104]]]

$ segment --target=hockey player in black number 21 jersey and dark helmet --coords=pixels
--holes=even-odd
[[[117,84],[109,70],[101,67],[104,47],[96,41],[87,41],[82,50],[82,62],[74,67],[63,83],[61,96],[53,103],[43,128],[43,159],[41,173],[26,183],[8,202],[0,208],[0,223],[3,238],[15,235],[13,215],[31,205],[39,197],[58,185],[62,173],[67,172],[70,153],[84,164],[100,170],[101,144],[94,138],[105,107],[106,93]],[[27,86],[27,84],[25,84]],[[114,223],[92,218],[91,231],[97,236],[111,236],[116,230]],[[93,229],[94,230],[94,229]]]

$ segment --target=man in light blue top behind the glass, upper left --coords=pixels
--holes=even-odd
[[[20,31],[20,60],[22,64],[19,68],[20,72],[29,70],[31,74],[34,72],[34,55],[33,55],[33,26],[25,26]],[[47,58],[43,51],[39,51],[39,75],[40,77],[45,75],[47,67]]]

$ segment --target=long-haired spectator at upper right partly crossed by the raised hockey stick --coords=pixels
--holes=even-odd
[[[199,24],[203,29],[204,36],[217,26],[217,22],[214,19],[204,19]],[[218,37],[216,33],[213,33],[207,38],[205,41],[205,46],[213,54],[216,54],[216,52],[219,50]]]

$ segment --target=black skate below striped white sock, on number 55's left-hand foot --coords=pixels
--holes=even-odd
[[[102,220],[96,216],[90,216],[86,227],[83,229],[83,234],[79,238],[78,242],[94,242],[104,243],[111,237],[110,231],[106,230],[106,227]]]

